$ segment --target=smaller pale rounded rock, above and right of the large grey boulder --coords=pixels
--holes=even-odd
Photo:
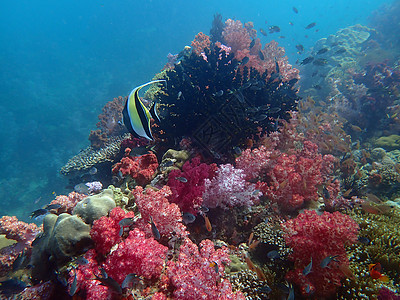
[[[80,216],[87,224],[92,224],[102,216],[107,216],[115,206],[112,189],[105,189],[100,194],[86,197],[78,202],[72,213]]]

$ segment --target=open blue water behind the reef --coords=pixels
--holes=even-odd
[[[294,63],[306,55],[296,44],[307,50],[340,28],[367,24],[383,3],[1,1],[0,215],[26,220],[53,192],[69,192],[59,169],[89,144],[103,105],[149,81],[199,31],[208,34],[215,13],[253,21],[257,30],[280,26],[279,34],[259,36],[276,39]],[[317,26],[305,30],[311,22]]]

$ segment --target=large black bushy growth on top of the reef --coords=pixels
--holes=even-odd
[[[279,68],[270,75],[241,66],[218,46],[201,55],[192,51],[161,76],[167,83],[154,94],[161,123],[153,131],[166,147],[190,137],[204,154],[229,156],[296,110],[297,79],[282,81]]]

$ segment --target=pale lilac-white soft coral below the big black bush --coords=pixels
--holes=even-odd
[[[255,185],[247,183],[244,178],[241,169],[230,164],[219,166],[216,176],[205,180],[203,205],[209,208],[253,205],[260,194],[254,193]]]

